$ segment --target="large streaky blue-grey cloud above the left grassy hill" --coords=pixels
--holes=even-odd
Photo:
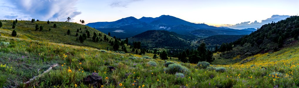
[[[6,14],[15,14],[19,19],[30,20],[31,18],[42,21],[66,21],[67,17],[74,18],[80,15],[74,7],[78,0],[8,0]],[[2,6],[1,6],[2,7]],[[9,18],[10,16],[4,16]]]

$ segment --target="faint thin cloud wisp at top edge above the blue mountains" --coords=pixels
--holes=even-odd
[[[110,4],[111,7],[127,7],[130,3],[135,1],[142,1],[142,0],[123,0],[123,1],[114,1]]]

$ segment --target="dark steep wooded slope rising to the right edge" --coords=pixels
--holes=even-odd
[[[298,42],[299,16],[291,16],[276,23],[265,24],[250,35],[234,41],[234,49],[222,55],[233,58],[247,57],[258,53],[275,52]]]

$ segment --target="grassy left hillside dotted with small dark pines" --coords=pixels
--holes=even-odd
[[[112,46],[107,41],[93,42],[92,36],[94,32],[97,33],[97,36],[99,36],[98,34],[101,33],[102,36],[100,36],[100,38],[102,40],[104,40],[103,37],[106,34],[85,25],[71,22],[50,22],[50,24],[47,24],[47,21],[35,21],[33,23],[31,23],[31,21],[18,21],[18,23],[16,23],[16,28],[12,29],[12,20],[0,21],[3,24],[3,27],[0,28],[0,33],[2,36],[11,36],[12,31],[16,30],[18,34],[17,37],[22,39],[87,46],[98,49],[107,49],[107,47],[109,47],[109,49],[112,49]],[[35,31],[36,24],[38,24],[39,26],[43,26],[43,30]],[[57,24],[57,28],[53,27],[54,24]],[[85,29],[85,27],[87,27],[87,29]],[[51,28],[51,31],[49,31],[49,28]],[[90,38],[87,38],[83,43],[80,43],[79,40],[76,41],[76,38],[79,38],[75,36],[77,33],[77,29],[79,29],[79,35],[86,33],[86,30],[88,30],[90,32]],[[68,30],[71,31],[70,35],[67,34]],[[109,40],[111,40],[112,37],[108,35],[106,36],[109,38]],[[114,41],[114,39],[112,39],[112,41]]]

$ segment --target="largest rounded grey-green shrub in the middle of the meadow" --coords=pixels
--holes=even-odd
[[[165,72],[175,74],[177,72],[187,73],[189,70],[187,67],[181,66],[180,64],[170,64],[165,68]]]

